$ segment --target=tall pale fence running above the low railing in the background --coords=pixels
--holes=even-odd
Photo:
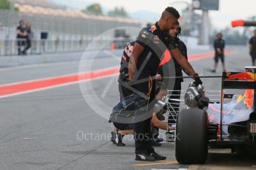
[[[39,39],[42,32],[47,32],[48,39],[84,39],[95,37],[115,27],[141,27],[137,23],[125,21],[108,21],[94,18],[46,16],[21,13],[13,10],[0,10],[0,23],[4,26],[4,34],[10,39],[16,38],[16,27],[19,20],[30,22],[34,38]],[[0,31],[1,34],[1,31]],[[0,38],[1,39],[1,38]]]

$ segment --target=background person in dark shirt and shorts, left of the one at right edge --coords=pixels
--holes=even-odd
[[[225,41],[223,40],[222,33],[217,33],[217,39],[214,40],[214,50],[215,50],[215,56],[214,56],[214,69],[211,70],[211,72],[216,72],[217,64],[220,61],[222,63],[223,72],[226,71],[225,68],[225,58],[224,58],[224,48],[225,48]]]

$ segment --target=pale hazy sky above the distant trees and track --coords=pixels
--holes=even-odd
[[[181,7],[180,4],[173,4],[177,0],[54,0],[67,7],[82,9],[88,4],[99,3],[104,9],[111,10],[114,7],[125,7],[129,13],[140,10],[147,10],[153,13],[160,13],[168,6]],[[191,0],[183,0],[191,2]],[[184,6],[184,5],[183,5]],[[247,18],[256,16],[256,0],[220,0],[220,10],[209,13],[214,27],[224,28],[230,25],[232,19]]]

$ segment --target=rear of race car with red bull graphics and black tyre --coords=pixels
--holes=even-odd
[[[201,92],[200,92],[201,89]],[[225,95],[224,89],[246,89],[244,95]],[[209,148],[256,152],[256,67],[246,72],[223,72],[220,103],[200,109],[202,88],[190,86],[185,94],[188,109],[177,118],[176,158],[179,163],[205,163]],[[224,98],[232,98],[224,103]]]

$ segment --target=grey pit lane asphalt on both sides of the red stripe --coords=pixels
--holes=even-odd
[[[246,47],[230,48],[237,52],[226,56],[227,70],[243,71],[243,67],[250,64]],[[0,69],[0,84],[76,73],[78,64],[79,61],[69,61]],[[96,59],[94,68],[118,64],[119,60],[102,57]],[[217,73],[209,72],[213,58],[191,64],[200,75],[203,72],[220,75],[222,71],[219,66]],[[93,81],[99,96],[108,82],[109,78]],[[187,79],[183,89],[190,82]],[[209,79],[205,84],[206,90],[220,90],[220,79]],[[116,77],[102,100],[108,106],[119,101]],[[252,169],[256,165],[252,157],[229,154],[228,150],[224,151],[228,154],[223,154],[222,150],[212,151],[204,166],[180,165],[175,160],[174,144],[171,143],[155,147],[157,152],[168,157],[166,161],[137,162],[132,137],[125,137],[125,147],[110,143],[106,135],[111,132],[111,124],[88,106],[78,84],[2,98],[0,108],[0,169]]]

